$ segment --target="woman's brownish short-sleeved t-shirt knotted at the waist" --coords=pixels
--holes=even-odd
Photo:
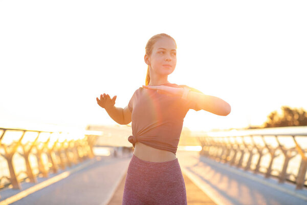
[[[166,83],[164,86],[187,87],[186,85]],[[131,97],[128,108],[131,111],[132,134],[128,140],[135,147],[136,141],[147,146],[177,152],[183,119],[189,109],[201,110],[191,100],[180,96],[157,93],[156,90],[140,87]]]

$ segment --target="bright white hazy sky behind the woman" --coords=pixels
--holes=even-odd
[[[281,106],[307,110],[306,10],[306,1],[0,1],[0,127],[116,124],[96,97],[128,105],[158,33],[178,47],[170,83],[231,106],[227,116],[190,110],[184,127],[245,128]]]

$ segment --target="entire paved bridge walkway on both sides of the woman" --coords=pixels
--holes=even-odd
[[[184,175],[189,205],[307,204],[307,190],[295,190],[293,184],[279,184],[275,179],[265,179],[261,175],[223,165],[200,156],[198,152],[179,151],[177,157]],[[25,195],[26,197],[12,204],[121,204],[130,159],[131,155],[117,158],[109,156],[101,157],[101,160],[82,162],[58,174],[68,172],[67,177],[27,194],[28,196]],[[39,182],[44,180],[49,179],[38,179]],[[37,185],[23,183],[21,186],[21,191],[2,190],[0,204],[10,196],[23,193]]]

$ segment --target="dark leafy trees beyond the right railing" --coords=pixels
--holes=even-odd
[[[307,112],[302,108],[291,109],[288,106],[281,107],[281,114],[276,110],[268,115],[264,123],[265,128],[307,126]]]

